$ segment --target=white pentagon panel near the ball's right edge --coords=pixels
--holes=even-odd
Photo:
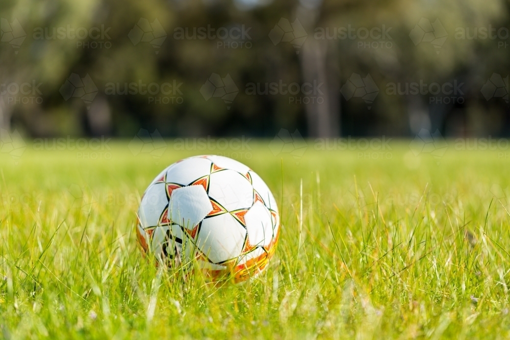
[[[244,216],[251,246],[268,246],[273,239],[271,214],[264,204],[256,202]]]

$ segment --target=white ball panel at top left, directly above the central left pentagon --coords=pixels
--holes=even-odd
[[[187,186],[191,182],[211,173],[211,161],[205,158],[188,158],[171,166],[166,173],[166,182]]]

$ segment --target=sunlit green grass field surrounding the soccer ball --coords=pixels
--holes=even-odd
[[[510,337],[504,152],[250,147],[221,153],[265,179],[282,234],[239,285],[158,270],[134,233],[160,170],[214,151],[0,153],[0,338]]]

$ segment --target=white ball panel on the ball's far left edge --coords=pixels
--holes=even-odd
[[[138,209],[138,217],[142,228],[158,225],[161,214],[168,205],[164,183],[151,185],[143,195]]]

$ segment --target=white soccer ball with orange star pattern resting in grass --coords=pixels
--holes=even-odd
[[[136,229],[144,253],[158,264],[240,282],[258,275],[274,254],[279,215],[253,170],[205,155],[176,162],[151,182]]]

